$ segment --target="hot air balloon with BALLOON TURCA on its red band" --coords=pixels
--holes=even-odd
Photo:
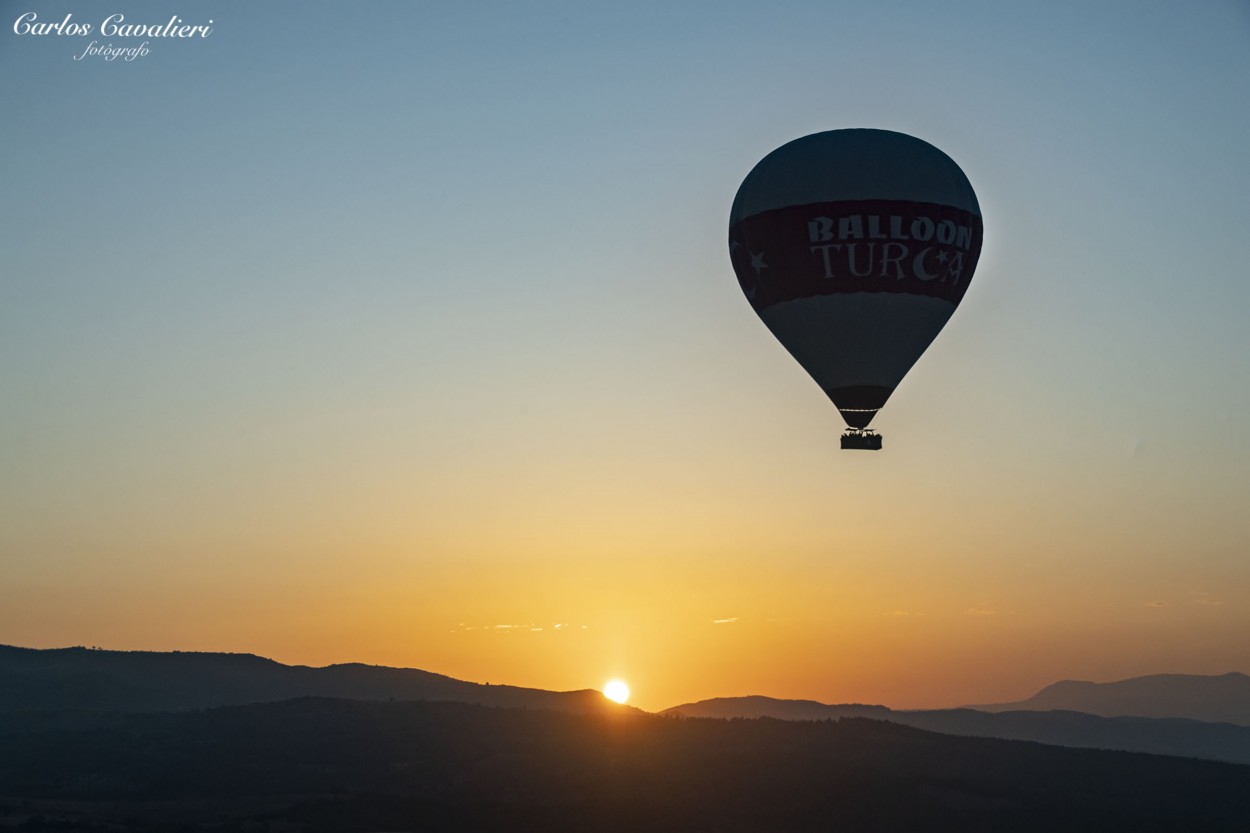
[[[881,448],[869,423],[955,311],[980,254],[964,171],[890,130],[778,148],[742,180],[729,218],[738,281],[841,411],[842,448]]]

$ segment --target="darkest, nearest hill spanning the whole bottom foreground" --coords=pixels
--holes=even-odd
[[[0,829],[1238,830],[1250,767],[836,722],[302,699],[9,715]]]

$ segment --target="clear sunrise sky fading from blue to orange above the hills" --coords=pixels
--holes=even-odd
[[[1250,672],[1246,3],[0,13],[0,643],[646,709]],[[865,126],[985,221],[879,453],[726,249]]]

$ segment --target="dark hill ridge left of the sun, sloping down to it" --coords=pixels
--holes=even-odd
[[[575,713],[614,708],[590,689],[469,683],[415,668],[360,663],[310,668],[254,654],[0,645],[0,710],[6,712],[182,712],[301,697],[454,700]]]

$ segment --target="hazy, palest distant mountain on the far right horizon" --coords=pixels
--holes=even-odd
[[[979,712],[1066,709],[1101,717],[1189,718],[1250,727],[1250,677],[1240,673],[1151,674],[1115,683],[1062,680],[1019,703],[970,705]]]

